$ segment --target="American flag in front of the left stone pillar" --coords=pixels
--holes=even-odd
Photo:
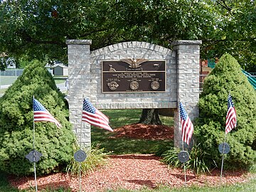
[[[105,114],[97,110],[90,103],[89,100],[84,99],[82,105],[82,122],[88,122],[94,126],[107,129],[110,132],[113,132],[113,129],[109,125],[109,119]]]

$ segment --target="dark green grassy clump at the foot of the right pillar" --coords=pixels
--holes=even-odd
[[[176,147],[170,147],[167,151],[162,154],[162,161],[169,164],[171,167],[182,168],[184,165],[186,169],[192,169],[196,174],[210,173],[210,165],[204,161],[206,152],[201,150],[199,144],[195,144],[190,151],[189,159],[185,164],[178,160],[178,153],[181,149]]]

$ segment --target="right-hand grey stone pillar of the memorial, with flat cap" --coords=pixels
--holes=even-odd
[[[174,41],[177,61],[177,102],[181,101],[189,118],[198,117],[199,59],[202,41]],[[177,104],[178,106],[178,104]],[[179,109],[174,112],[174,146],[182,147]],[[193,142],[191,141],[191,144]],[[184,145],[186,146],[186,145]]]

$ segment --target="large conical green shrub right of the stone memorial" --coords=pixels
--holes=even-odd
[[[256,162],[256,92],[237,60],[223,55],[203,84],[199,100],[200,117],[196,120],[197,142],[207,151],[208,159],[220,166],[222,155],[218,145],[225,138],[225,117],[228,94],[233,98],[238,124],[227,134],[231,151],[225,156],[224,166],[249,168]],[[211,160],[210,160],[211,161]]]

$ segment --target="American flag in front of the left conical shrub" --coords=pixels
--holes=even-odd
[[[61,124],[36,99],[33,99],[33,114],[34,122],[54,122],[57,127],[61,127]]]

